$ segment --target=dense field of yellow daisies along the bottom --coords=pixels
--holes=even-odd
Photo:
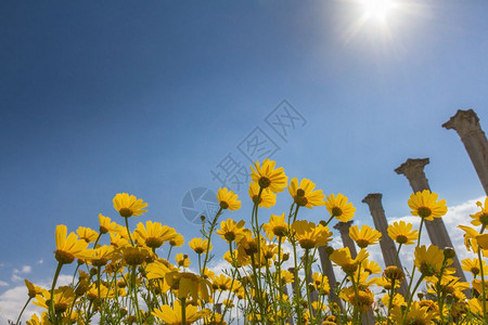
[[[281,199],[290,202],[290,210],[260,224],[258,216],[268,218],[266,208],[285,190],[290,196],[281,194]],[[467,283],[455,276],[452,248],[421,245],[425,222],[447,213],[446,200],[436,193],[413,193],[407,202],[421,220],[419,229],[404,221],[388,225],[398,265],[402,247],[415,247],[409,270],[395,264],[382,269],[371,259],[369,249],[384,234],[369,225],[349,229],[360,249],[357,255],[348,247],[329,246],[332,225],[352,220],[356,208],[341,193],[325,196],[308,179],[288,180],[275,161],[252,166],[248,194],[239,198],[220,188],[218,211],[202,216],[201,237],[187,240],[177,230],[151,220],[131,230],[128,220],[142,220],[147,204],[127,193],[113,199],[117,221],[99,214],[98,231],[80,226],[68,232],[57,225],[52,286],[25,281],[24,310],[29,303],[44,310],[27,324],[488,324],[488,198],[478,203],[472,225],[460,225],[464,248],[472,255],[461,261],[474,278]],[[241,209],[240,199],[253,202],[248,219],[223,220],[224,210],[232,216]],[[304,209],[322,206],[324,220],[300,218]],[[209,268],[217,243],[227,247],[223,273]],[[179,252],[183,245],[194,253]],[[326,259],[342,270],[337,283],[328,278]],[[72,263],[77,265],[72,285],[56,286],[61,271]],[[190,263],[198,272],[191,272]],[[403,295],[401,285],[407,288]],[[418,295],[421,287],[426,292]]]

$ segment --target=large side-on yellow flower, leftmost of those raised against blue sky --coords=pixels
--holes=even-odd
[[[88,243],[78,239],[75,233],[67,235],[67,227],[64,224],[56,226],[56,250],[54,257],[62,264],[70,264],[75,258],[87,259],[91,256],[91,250],[87,249]]]

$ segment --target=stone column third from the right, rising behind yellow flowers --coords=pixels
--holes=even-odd
[[[395,259],[397,257],[397,247],[394,240],[388,236],[388,221],[386,220],[385,210],[382,205],[381,193],[368,194],[362,203],[370,207],[371,216],[373,217],[374,226],[382,233],[382,238],[380,240],[380,247],[382,248],[383,260],[386,266],[395,265]],[[401,261],[397,261],[397,265],[403,270],[401,266]],[[407,297],[407,282],[403,281],[398,289],[398,292],[403,297]]]

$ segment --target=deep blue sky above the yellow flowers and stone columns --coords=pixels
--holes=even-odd
[[[149,203],[132,226],[151,219],[196,236],[183,196],[217,191],[210,170],[256,127],[290,177],[349,196],[361,222],[372,223],[361,204],[372,192],[387,216],[408,214],[411,190],[394,169],[409,157],[431,158],[431,186],[448,204],[484,195],[458,134],[440,127],[474,108],[488,128],[484,1],[409,1],[386,28],[372,20],[356,32],[363,8],[352,1],[1,6],[0,281],[23,265],[33,281],[51,276],[55,225],[117,220],[119,192]],[[307,120],[287,142],[265,122],[284,99]],[[247,220],[239,194],[232,217]],[[272,212],[290,204],[279,200]]]

